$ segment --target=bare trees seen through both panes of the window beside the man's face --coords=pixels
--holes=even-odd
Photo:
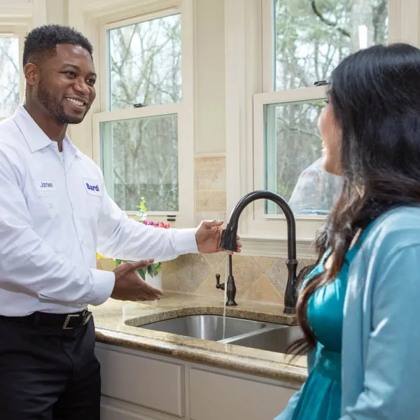
[[[108,37],[110,111],[181,102],[181,15]],[[175,115],[102,124],[104,174],[122,209],[137,210],[145,197],[149,211],[179,210],[177,123]]]

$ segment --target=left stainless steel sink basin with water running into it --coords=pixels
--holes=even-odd
[[[249,332],[278,327],[275,323],[251,321],[249,319],[233,318],[226,316],[225,335],[223,337],[223,316],[219,315],[190,315],[179,318],[167,319],[139,328],[169,332],[171,334],[185,335],[187,337],[220,341],[230,337],[242,336]]]

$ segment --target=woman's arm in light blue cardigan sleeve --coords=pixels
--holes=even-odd
[[[393,235],[372,251],[365,279],[374,288],[364,391],[340,420],[420,418],[420,238],[415,233]]]

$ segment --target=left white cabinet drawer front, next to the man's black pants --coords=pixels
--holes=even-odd
[[[97,346],[102,395],[182,417],[185,415],[183,365]]]

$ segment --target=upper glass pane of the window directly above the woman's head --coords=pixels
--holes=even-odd
[[[388,40],[388,0],[274,0],[275,90],[325,80],[351,52]]]

